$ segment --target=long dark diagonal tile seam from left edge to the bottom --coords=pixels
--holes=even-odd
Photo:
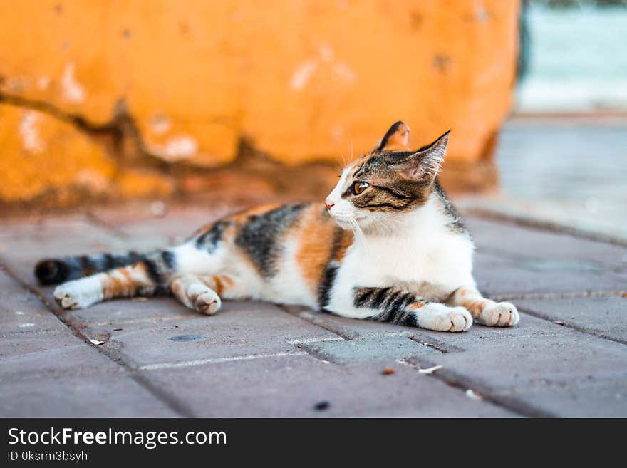
[[[81,329],[78,327],[78,320],[76,318],[68,318],[68,316],[70,315],[69,313],[65,313],[65,314],[59,313],[56,310],[56,308],[54,308],[51,305],[51,303],[46,300],[46,298],[43,296],[43,293],[41,293],[41,291],[38,288],[29,284],[28,281],[23,279],[16,271],[14,271],[14,269],[8,266],[3,256],[0,256],[0,270],[4,271],[14,281],[20,284],[22,288],[25,288],[26,291],[36,296],[36,298],[38,298],[38,300],[41,303],[43,303],[43,306],[45,306],[49,311],[51,311],[51,313],[54,316],[56,316],[56,318],[58,318],[58,320],[61,321],[61,323],[63,323],[63,325],[65,325],[68,328],[68,330],[71,331],[71,333],[73,333],[74,336],[83,340],[91,348],[95,348],[98,351],[98,353],[104,355],[106,358],[108,358],[110,361],[112,361],[116,365],[119,365],[121,368],[125,370],[132,370],[128,368],[123,361],[115,359],[115,356],[113,356],[111,353],[108,353],[105,350],[105,348],[101,348],[100,346],[94,346],[93,344],[91,344],[89,341],[89,337],[86,336],[85,333],[81,332]],[[163,392],[160,388],[157,388],[155,387],[155,385],[152,385],[152,383],[146,380],[145,378],[143,378],[142,375],[138,375],[137,373],[129,373],[129,377],[135,383],[140,385],[141,388],[143,388],[148,393],[150,393],[152,397],[155,397],[157,401],[161,402],[162,405],[165,405],[165,407],[175,412],[176,415],[180,417],[194,417],[195,416],[189,408],[187,408],[185,405],[182,405],[182,403],[180,403],[178,400],[171,397],[167,393]]]

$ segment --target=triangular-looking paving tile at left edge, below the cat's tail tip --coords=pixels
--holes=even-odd
[[[65,329],[38,298],[0,270],[0,335]]]

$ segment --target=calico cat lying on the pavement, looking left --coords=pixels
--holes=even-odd
[[[399,121],[324,203],[249,209],[159,251],[44,259],[36,277],[63,283],[66,309],[172,293],[207,315],[249,298],[436,331],[514,326],[516,307],[477,291],[474,244],[437,180],[449,135],[410,150]]]

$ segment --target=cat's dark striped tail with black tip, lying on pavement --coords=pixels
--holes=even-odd
[[[35,276],[41,284],[59,284],[138,262],[146,264],[150,271],[170,266],[168,256],[169,251],[166,250],[152,251],[148,254],[128,251],[122,254],[101,253],[43,259],[35,265]]]

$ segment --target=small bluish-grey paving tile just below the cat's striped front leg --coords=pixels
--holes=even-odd
[[[335,340],[304,343],[299,346],[318,359],[332,363],[356,363],[363,361],[397,360],[415,355],[438,353],[404,336],[363,338],[361,340]]]

